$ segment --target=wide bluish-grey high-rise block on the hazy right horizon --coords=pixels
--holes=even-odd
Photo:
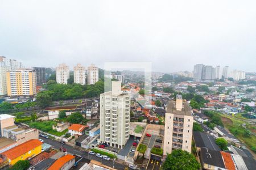
[[[194,66],[193,78],[197,81],[214,82],[215,69],[212,66],[197,64]]]

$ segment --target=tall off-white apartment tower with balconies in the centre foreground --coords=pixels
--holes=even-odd
[[[112,82],[112,91],[100,96],[100,141],[123,148],[129,139],[130,94],[121,91],[121,82]]]

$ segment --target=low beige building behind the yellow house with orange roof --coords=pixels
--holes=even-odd
[[[38,129],[23,129],[16,125],[3,128],[3,137],[16,141],[18,145],[29,141],[30,139],[38,139]]]

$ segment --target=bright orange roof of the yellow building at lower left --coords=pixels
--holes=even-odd
[[[2,153],[2,155],[6,155],[7,158],[13,160],[20,155],[26,154],[28,151],[42,145],[43,143],[40,142],[38,139],[31,139],[30,141],[24,142],[14,148],[11,148],[8,151]]]

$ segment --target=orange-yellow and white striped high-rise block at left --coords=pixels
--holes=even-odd
[[[35,95],[35,71],[29,69],[9,70],[6,73],[6,84],[8,96]]]

